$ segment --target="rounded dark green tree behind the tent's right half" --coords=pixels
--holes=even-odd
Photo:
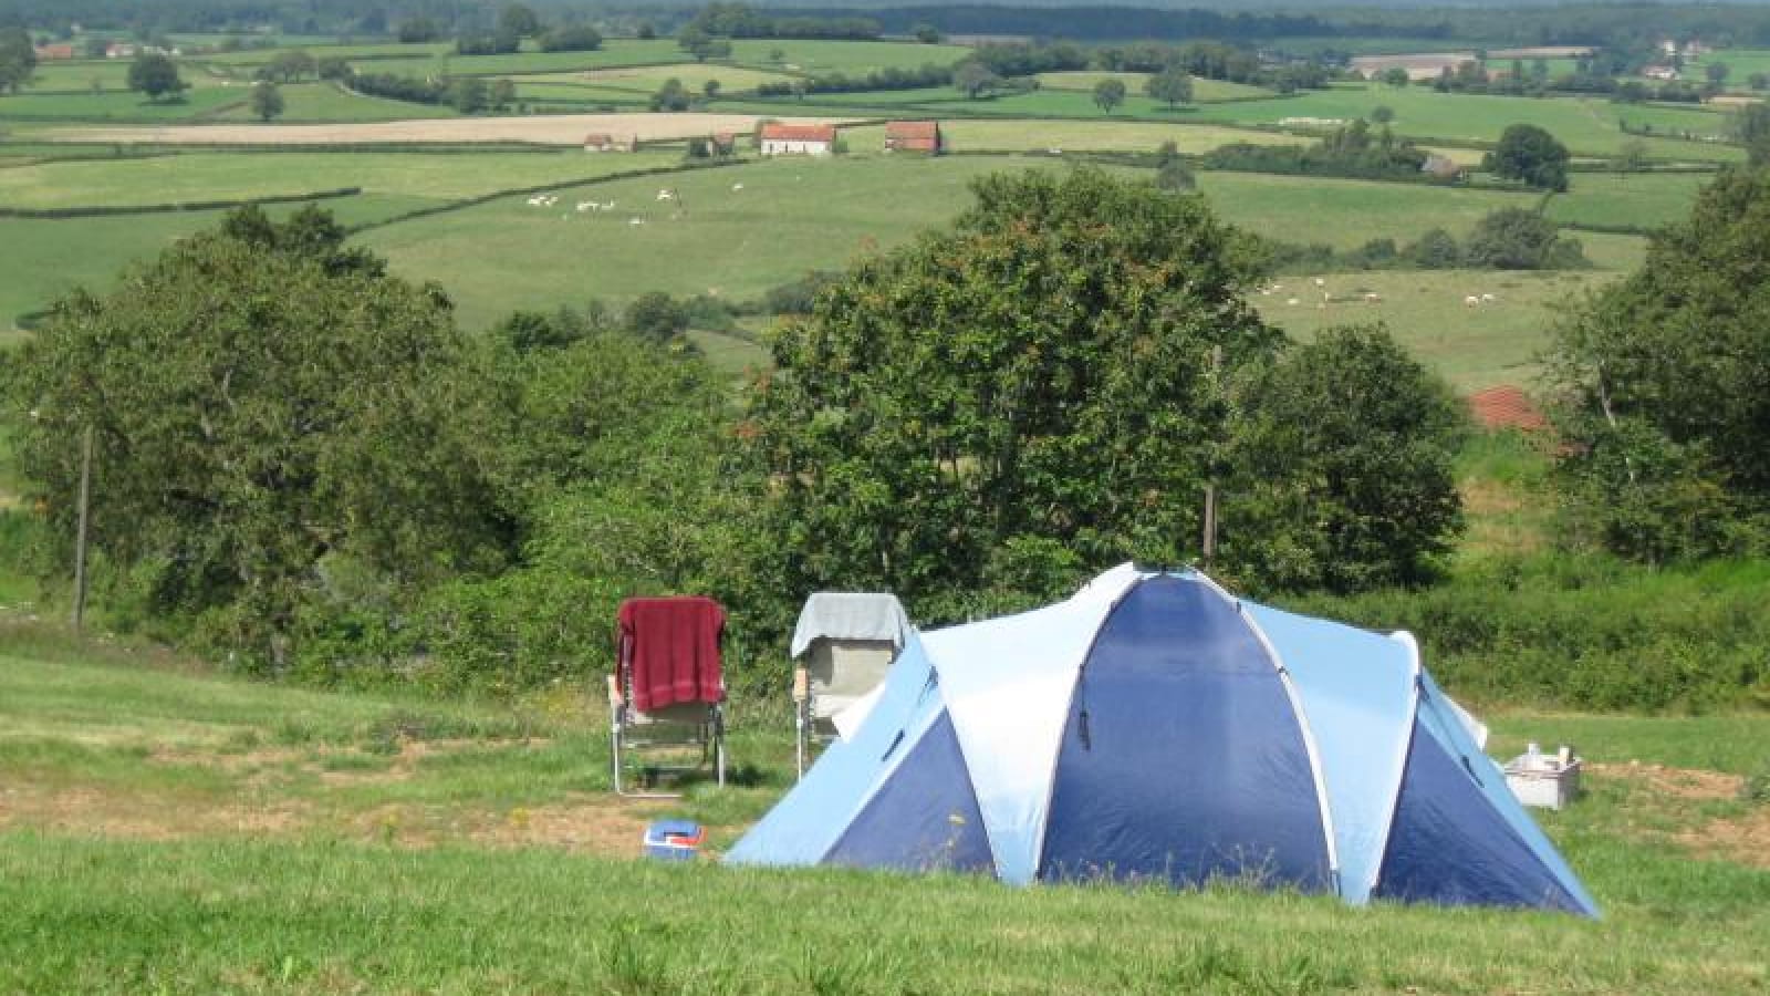
[[[1246,581],[1420,581],[1462,526],[1450,386],[1381,326],[1329,328],[1235,390],[1223,558]]]

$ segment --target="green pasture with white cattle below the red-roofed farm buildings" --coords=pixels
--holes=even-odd
[[[396,273],[442,280],[467,328],[517,307],[627,301],[643,291],[749,300],[899,245],[965,207],[974,177],[1027,163],[775,160],[561,191],[563,202],[614,202],[614,211],[561,216],[513,197],[377,229],[363,243]],[[660,188],[681,200],[657,200]]]

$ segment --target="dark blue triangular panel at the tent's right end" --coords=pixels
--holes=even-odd
[[[1476,776],[1423,723],[1414,723],[1395,824],[1372,895],[1589,913],[1481,796]]]

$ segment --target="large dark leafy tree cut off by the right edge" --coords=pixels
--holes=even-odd
[[[1554,333],[1572,523],[1658,562],[1770,535],[1770,174],[1724,172]]]

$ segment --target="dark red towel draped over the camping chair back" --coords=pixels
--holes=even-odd
[[[650,712],[678,702],[722,702],[719,638],[724,631],[726,610],[713,599],[621,603],[621,666],[632,681],[634,709]]]

